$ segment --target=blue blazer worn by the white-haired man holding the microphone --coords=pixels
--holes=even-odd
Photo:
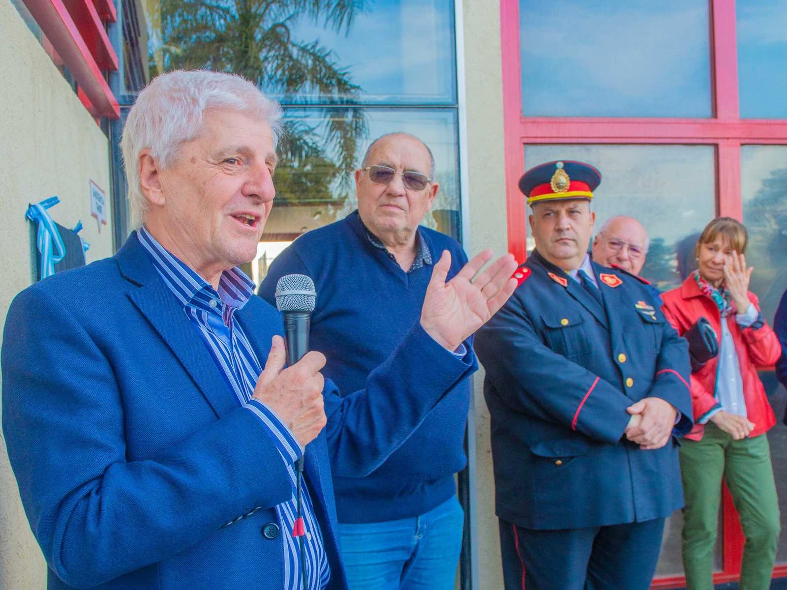
[[[235,318],[264,363],[283,332],[279,312],[252,297]],[[412,368],[424,362],[437,367],[433,387]],[[414,326],[367,389],[342,398],[327,382],[328,425],[306,448],[305,480],[330,588],[347,583],[327,438],[340,468],[363,476],[470,370]],[[290,497],[283,460],[262,422],[238,407],[135,234],[113,258],[14,299],[2,377],[9,459],[48,588],[283,588],[280,535],[290,532],[271,539],[266,526]],[[412,391],[397,407],[392,386]],[[401,420],[375,430],[391,411]]]

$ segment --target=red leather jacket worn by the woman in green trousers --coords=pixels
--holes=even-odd
[[[751,291],[748,293],[749,301],[759,312],[759,300]],[[693,275],[683,282],[678,289],[672,289],[662,295],[664,315],[681,336],[689,330],[691,326],[705,316],[710,321],[716,335],[719,337],[721,345],[722,326],[721,313],[719,308],[711,299],[705,296],[700,287],[697,286]],[[778,337],[774,334],[767,323],[763,323],[759,328],[749,326],[741,329],[737,325],[734,314],[726,317],[727,326],[730,328],[735,352],[737,352],[738,363],[741,366],[741,381],[743,385],[743,396],[746,402],[746,414],[748,419],[754,422],[755,427],[749,437],[756,437],[767,432],[776,423],[773,408],[770,407],[768,398],[765,395],[763,383],[757,375],[757,367],[767,367],[775,363],[781,355],[781,345]],[[716,367],[719,364],[718,357],[705,363],[704,367],[693,373],[691,376],[691,398],[694,411],[694,420],[700,419],[708,411],[711,411],[719,402],[714,393],[716,389]],[[702,438],[705,426],[695,423],[692,431],[686,435],[693,441]]]

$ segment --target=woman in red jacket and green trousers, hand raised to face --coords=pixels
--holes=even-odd
[[[752,267],[744,256],[746,228],[729,217],[708,223],[696,244],[699,269],[663,295],[663,311],[685,334],[708,319],[719,354],[691,376],[694,429],[680,450],[685,496],[682,533],[687,590],[712,590],[722,478],[746,537],[741,588],[767,590],[776,559],[779,509],[765,436],[776,419],[757,367],[773,364],[781,348],[748,291]]]

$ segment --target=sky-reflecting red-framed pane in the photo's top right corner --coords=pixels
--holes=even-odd
[[[787,117],[787,2],[737,0],[741,116]]]

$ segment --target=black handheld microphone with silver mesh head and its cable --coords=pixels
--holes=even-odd
[[[309,352],[309,328],[312,325],[312,312],[317,302],[314,282],[306,275],[284,275],[276,282],[276,308],[284,315],[284,343],[287,366],[292,367]],[[295,462],[297,519],[293,537],[297,537],[301,553],[301,582],[304,590],[308,588],[306,576],[305,526],[303,522],[303,459],[301,455]]]

